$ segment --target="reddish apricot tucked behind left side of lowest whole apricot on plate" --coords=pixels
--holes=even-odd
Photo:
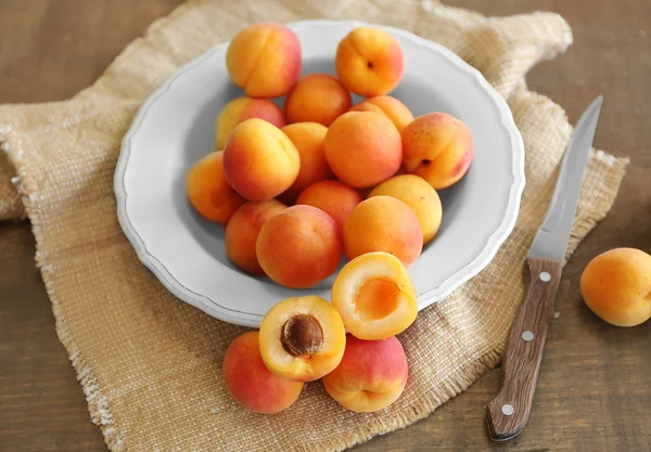
[[[263,225],[286,208],[277,199],[250,201],[240,207],[226,225],[226,255],[245,272],[265,274],[257,260],[255,245]]]

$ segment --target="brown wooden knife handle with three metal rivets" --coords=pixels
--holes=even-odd
[[[532,410],[549,321],[561,282],[563,263],[527,259],[531,282],[513,321],[502,357],[499,393],[486,405],[486,423],[494,441],[518,436]]]

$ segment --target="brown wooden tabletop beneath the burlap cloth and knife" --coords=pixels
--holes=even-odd
[[[90,85],[123,48],[181,0],[2,0],[0,103],[63,100]],[[596,146],[629,156],[616,204],[565,269],[535,406],[514,441],[492,444],[483,406],[499,370],[429,418],[358,451],[649,451],[650,323],[609,326],[583,305],[579,275],[597,254],[651,253],[651,2],[649,0],[454,0],[485,14],[554,11],[574,29],[565,55],[542,63],[529,86],[574,124],[605,98]],[[102,451],[81,387],[55,331],[34,263],[28,222],[0,223],[0,450]]]

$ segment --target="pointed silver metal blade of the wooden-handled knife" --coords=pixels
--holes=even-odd
[[[578,205],[578,195],[592,146],[601,102],[599,96],[580,116],[563,157],[561,172],[553,191],[547,217],[536,233],[528,257],[548,260],[565,260],[570,232]]]

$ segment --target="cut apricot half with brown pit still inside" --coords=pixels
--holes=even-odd
[[[273,374],[312,382],[339,365],[346,331],[336,309],[321,297],[288,298],[260,324],[260,354]]]

